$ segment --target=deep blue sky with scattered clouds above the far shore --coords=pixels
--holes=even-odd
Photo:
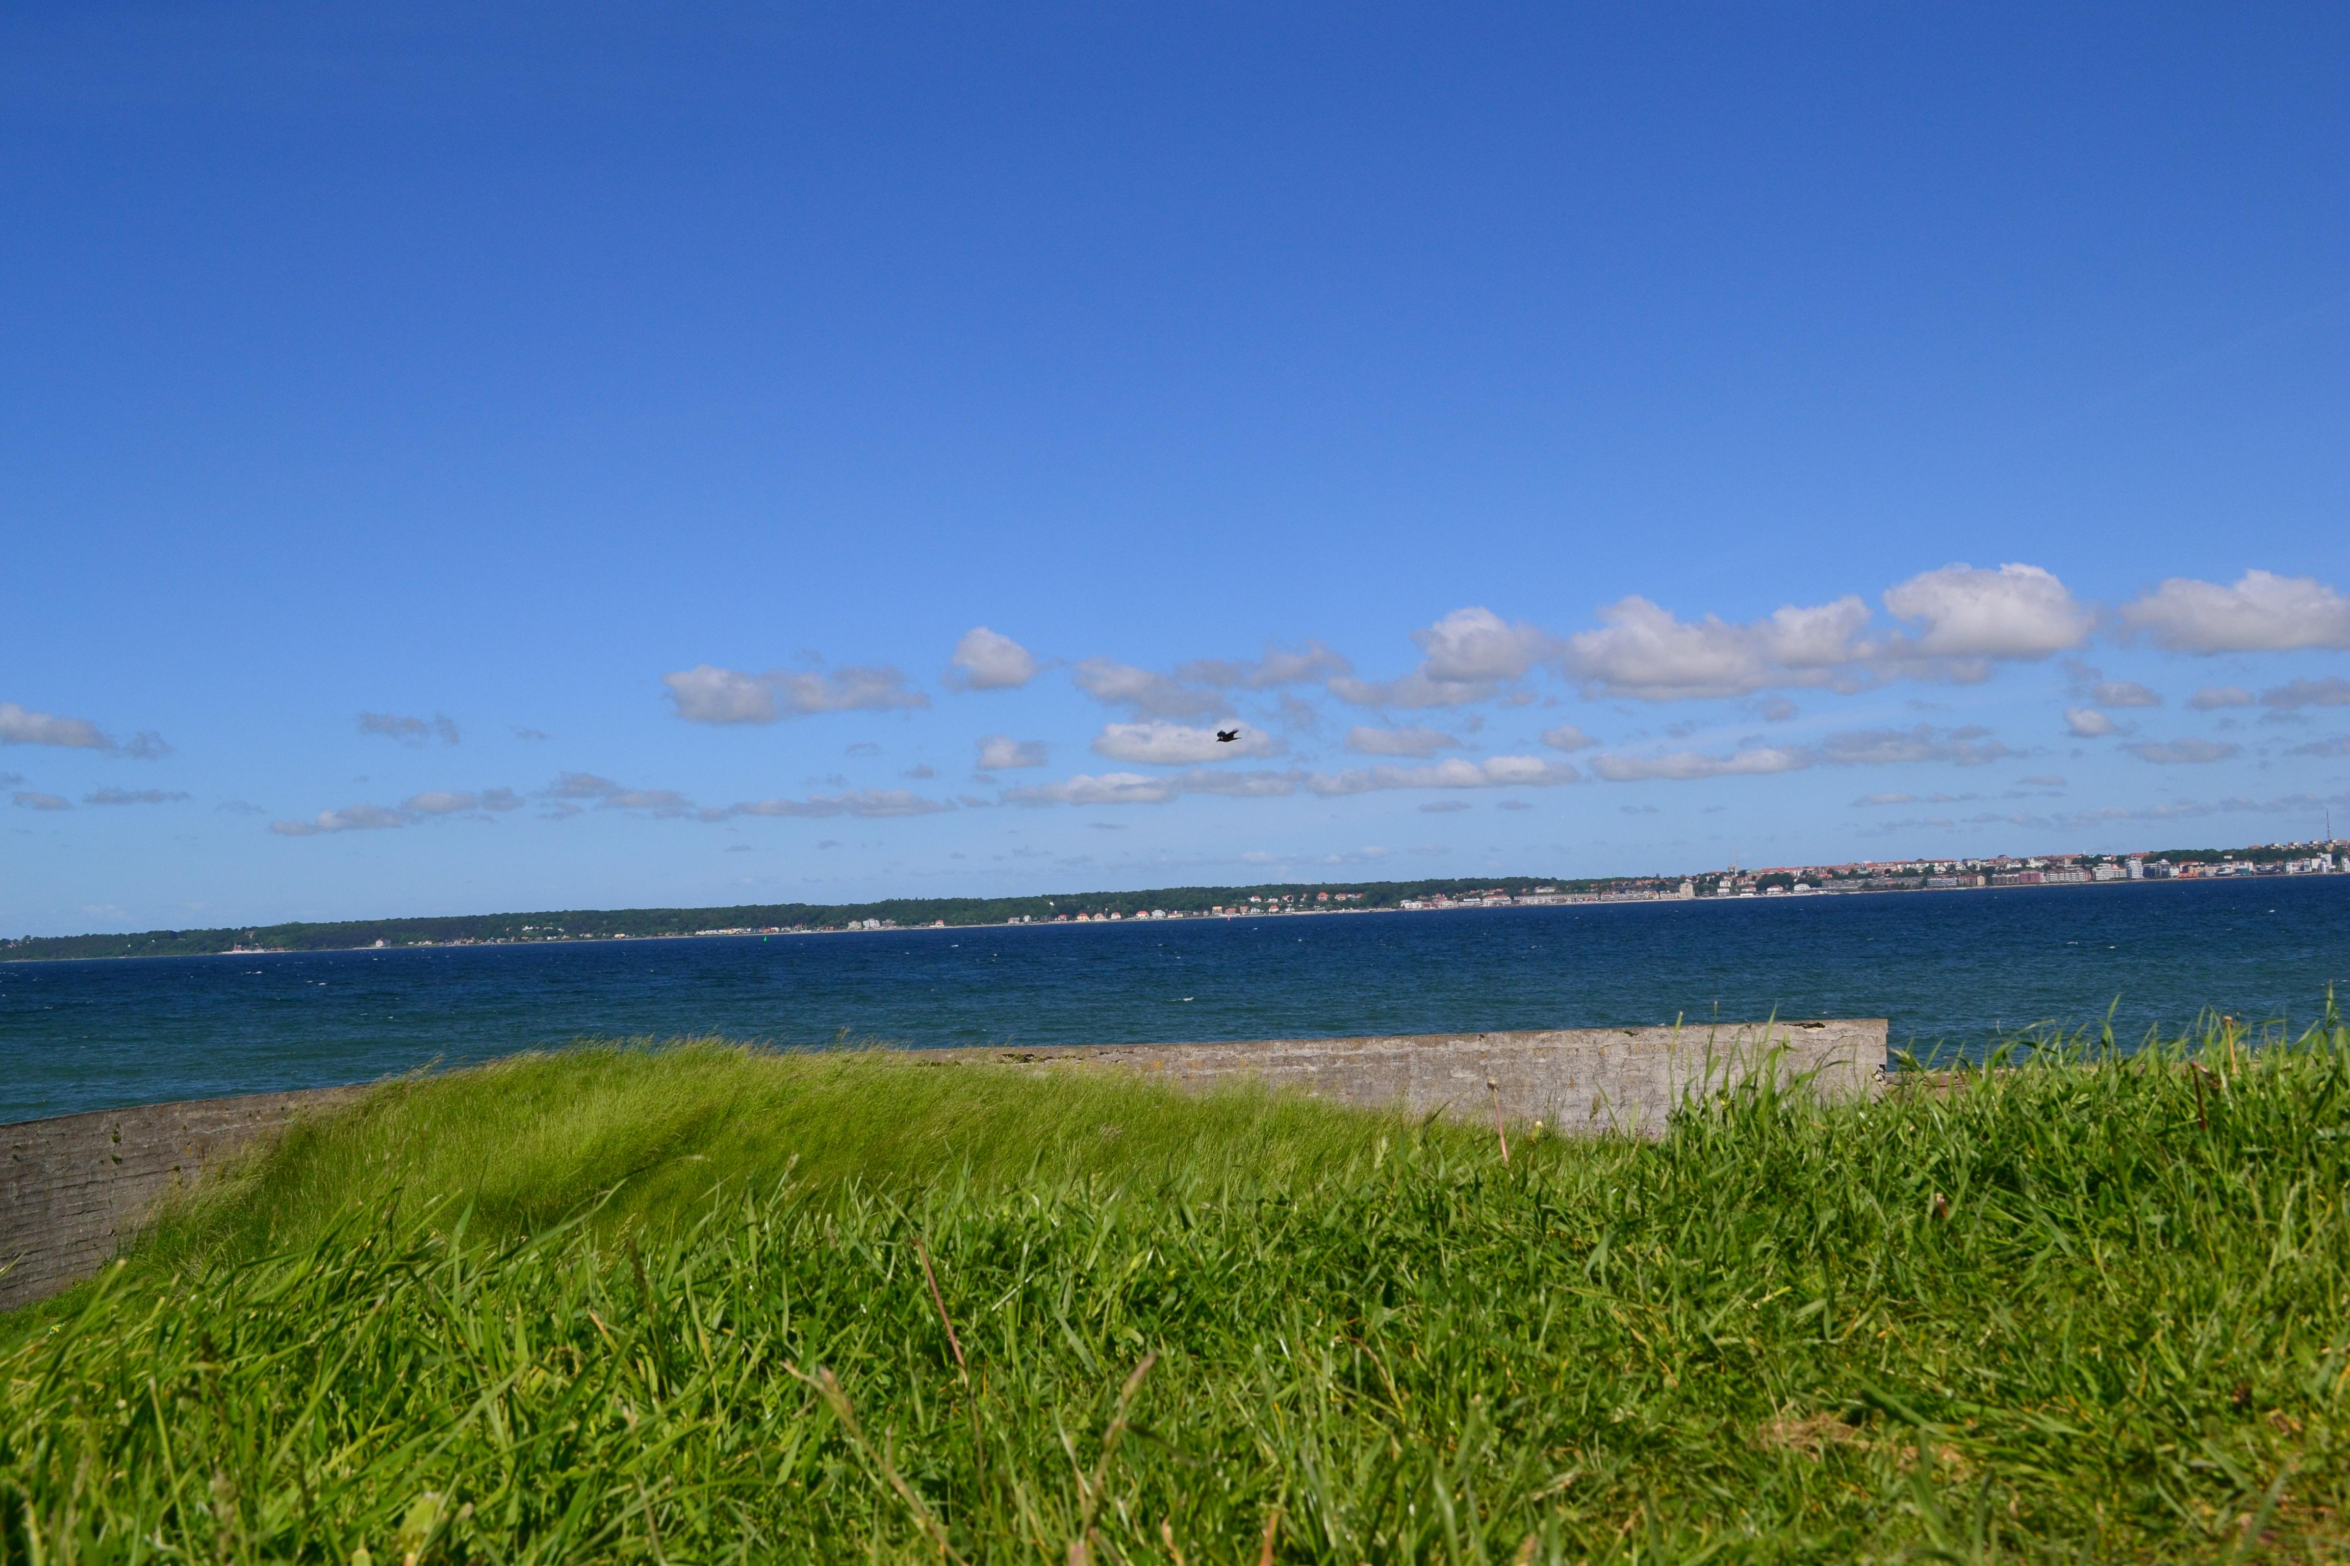
[[[2350,831],[2345,47],[12,7],[0,930]]]

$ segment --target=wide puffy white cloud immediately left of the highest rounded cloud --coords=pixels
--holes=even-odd
[[[1676,620],[1647,599],[1619,599],[1600,610],[1603,627],[1565,641],[1567,674],[1593,695],[1643,702],[1751,695],[1765,686],[1826,686],[1861,648],[1868,625],[1856,596],[1772,610],[1753,625],[1716,615]]]

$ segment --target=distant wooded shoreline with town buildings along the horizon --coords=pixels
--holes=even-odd
[[[2138,862],[2141,869],[2131,869]],[[1974,885],[2063,885],[2209,873],[2301,873],[2322,862],[2350,869],[2343,843],[2167,848],[2143,855],[2047,855],[2030,859],[1904,859],[1605,878],[1429,878],[1053,892],[1036,897],[884,897],[855,904],[738,904],[726,909],[555,909],[329,923],[221,925],[132,934],[26,934],[0,939],[0,963],[85,958],[183,958],[369,946],[515,946],[536,941],[677,939],[705,934],[811,934],[924,925],[1039,925],[1128,918],[1246,918],[1262,913],[1370,913],[1551,902],[1650,902],[1666,897],[1770,897],[1786,892],[1911,892]],[[2150,869],[2143,869],[2150,866]]]

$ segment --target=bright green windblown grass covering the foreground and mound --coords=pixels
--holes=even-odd
[[[1509,1165],[877,1057],[402,1082],[0,1322],[0,1559],[2343,1559],[2350,1028],[2200,1042]]]

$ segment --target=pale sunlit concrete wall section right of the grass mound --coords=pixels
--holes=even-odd
[[[1246,1045],[1067,1045],[1034,1049],[926,1049],[940,1066],[1018,1064],[1032,1071],[1135,1071],[1182,1087],[1255,1078],[1363,1108],[1499,1113],[1577,1136],[1657,1136],[1690,1092],[1746,1080],[1765,1061],[1781,1082],[1810,1080],[1828,1099],[1875,1089],[1885,1019],[1713,1024],[1706,1028],[1563,1028],[1525,1033],[1417,1033],[1398,1038],[1288,1038]]]

